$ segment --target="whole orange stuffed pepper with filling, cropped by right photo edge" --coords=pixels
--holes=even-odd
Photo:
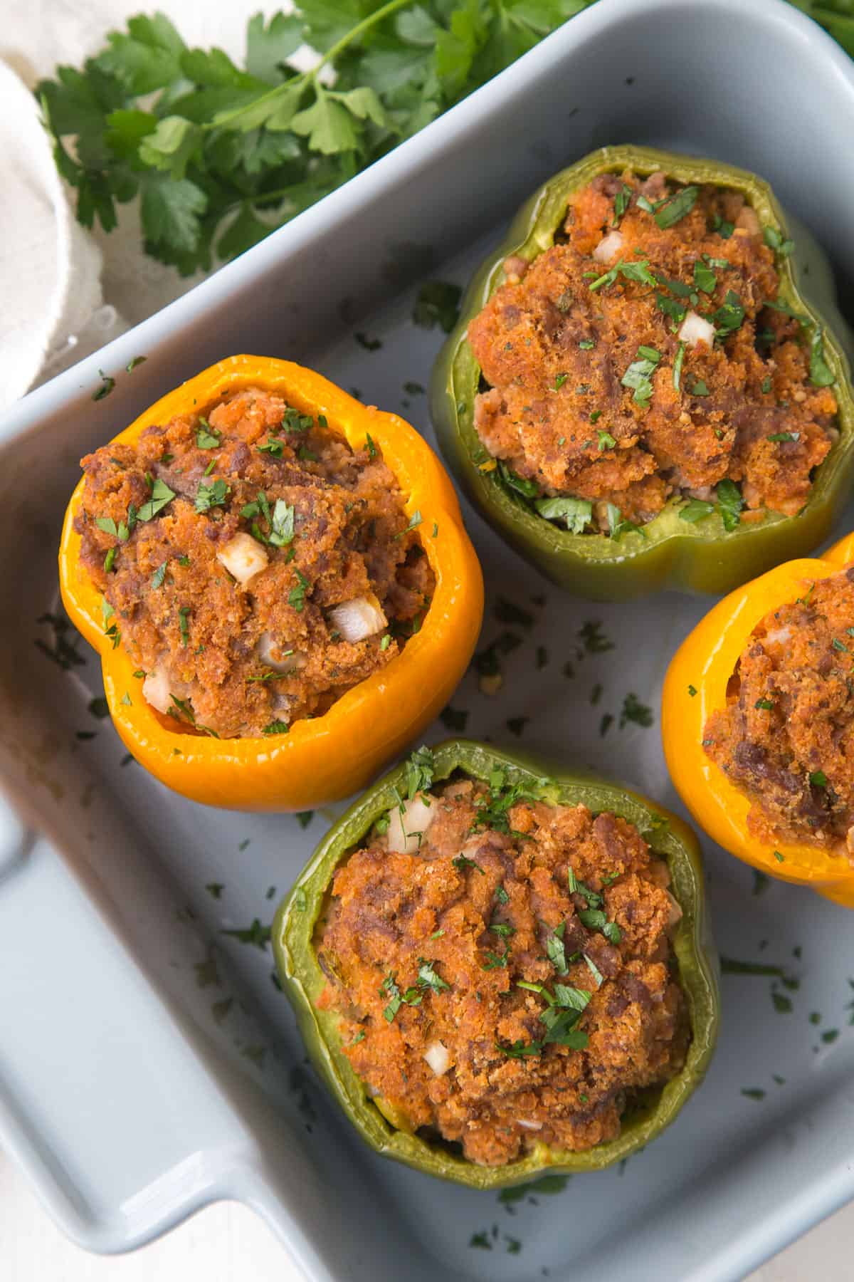
[[[854,535],[705,615],[667,672],[662,735],[714,841],[854,908]]]

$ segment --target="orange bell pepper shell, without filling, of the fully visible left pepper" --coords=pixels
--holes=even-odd
[[[124,745],[163,783],[210,805],[242,810],[306,810],[348,796],[399,754],[443,708],[465,672],[483,618],[483,577],[460,504],[433,450],[397,414],[365,406],[326,378],[288,360],[230,356],[147,409],[117,441],[134,441],[177,414],[206,413],[227,392],[262,387],[302,413],[325,414],[353,449],[365,435],[382,450],[406,496],[421,513],[423,546],[435,592],[421,628],[380,672],[353,686],[323,717],[294,722],[271,738],[210,738],[156,712],[134,688],[136,664],[104,633],[101,594],[81,565],[74,515],[79,482],[65,513],[59,581],[70,620],[101,656],[104,691]],[[435,529],[435,537],[433,531]]]

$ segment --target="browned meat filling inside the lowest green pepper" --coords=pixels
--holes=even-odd
[[[351,855],[316,946],[320,1005],[370,1094],[502,1165],[615,1138],[632,1094],[682,1067],[688,1022],[680,909],[638,829],[525,801],[510,832],[472,832],[484,796],[452,783],[417,851],[375,837]]]

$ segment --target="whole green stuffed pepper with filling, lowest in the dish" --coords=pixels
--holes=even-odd
[[[484,744],[420,749],[374,785],[282,904],[273,946],[362,1138],[474,1188],[638,1151],[714,1045],[690,828]]]

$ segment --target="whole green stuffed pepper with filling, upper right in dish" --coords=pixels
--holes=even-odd
[[[844,332],[826,260],[762,179],[603,147],[540,187],[480,268],[433,415],[484,517],[554,582],[599,600],[730,591],[839,514]]]

